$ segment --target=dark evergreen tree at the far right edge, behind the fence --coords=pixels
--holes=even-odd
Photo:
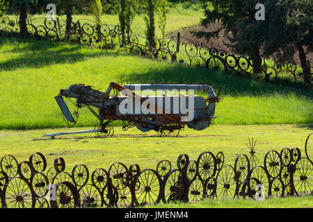
[[[264,55],[278,53],[281,62],[291,62],[298,51],[304,81],[310,84],[306,53],[312,52],[313,48],[313,1],[280,0],[273,8],[275,11],[269,17]]]

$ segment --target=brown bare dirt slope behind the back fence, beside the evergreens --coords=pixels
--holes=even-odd
[[[218,28],[220,28],[219,24],[210,24],[207,27],[196,25],[191,26],[188,28],[184,28],[184,30],[180,31],[180,42],[187,44],[187,43],[195,43],[195,42],[202,42],[202,45],[204,48],[216,48],[218,50],[224,50],[227,54],[232,53],[232,48],[230,46],[227,46],[227,44],[230,44],[230,41],[227,40],[226,37],[223,36],[223,32],[221,32],[218,37],[211,38],[209,42],[205,38],[198,38],[195,37],[191,31],[216,31]],[[174,40],[177,39],[177,31],[168,33],[167,37],[172,38]],[[313,69],[313,53],[307,53],[307,60],[310,60],[311,66]],[[294,55],[294,61],[300,65],[300,58],[299,53],[296,52]]]

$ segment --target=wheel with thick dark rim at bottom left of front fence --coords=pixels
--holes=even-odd
[[[79,193],[70,182],[56,185],[56,200],[50,200],[52,208],[76,208],[80,206]]]

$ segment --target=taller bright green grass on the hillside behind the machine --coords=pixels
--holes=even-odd
[[[111,81],[207,83],[216,91],[223,85],[216,124],[313,122],[312,91],[127,56],[119,50],[0,38],[0,76],[1,129],[67,126],[54,101],[59,90],[77,83],[105,90]],[[81,112],[78,126],[95,123],[89,112]]]

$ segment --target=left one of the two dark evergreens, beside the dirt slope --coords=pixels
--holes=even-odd
[[[273,0],[275,1],[275,0]],[[266,1],[265,8],[269,9]],[[255,6],[259,0],[208,0],[204,1],[204,19],[202,25],[220,23],[217,31],[198,32],[199,37],[209,40],[217,37],[221,31],[232,43],[236,53],[246,55],[252,60],[254,73],[262,72],[261,46],[266,40],[264,28],[266,19],[258,21],[255,19],[257,10]],[[268,7],[267,7],[268,6]],[[267,11],[266,11],[267,12]]]

